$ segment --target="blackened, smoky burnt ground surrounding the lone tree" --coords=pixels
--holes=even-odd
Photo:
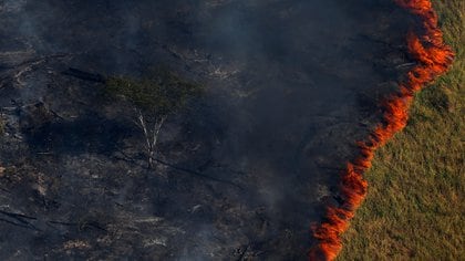
[[[415,21],[391,0],[4,0],[0,24],[1,260],[301,260]],[[147,168],[131,107],[66,72],[156,65],[207,91]]]

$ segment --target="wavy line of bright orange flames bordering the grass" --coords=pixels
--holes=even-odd
[[[414,93],[445,73],[454,56],[451,48],[443,41],[431,0],[394,1],[423,21],[424,29],[420,35],[407,35],[409,52],[416,60],[416,65],[400,84],[399,92],[383,102],[383,123],[374,128],[366,140],[358,143],[361,153],[347,165],[340,181],[340,192],[344,201],[339,207],[328,207],[326,221],[312,227],[318,244],[310,250],[309,260],[335,259],[342,248],[341,234],[366,196],[368,182],[363,179],[363,173],[371,167],[374,152],[405,127]]]

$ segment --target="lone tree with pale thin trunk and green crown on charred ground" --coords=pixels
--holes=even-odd
[[[144,135],[149,167],[154,165],[158,137],[168,116],[184,108],[188,100],[203,91],[202,85],[163,69],[152,70],[140,80],[112,76],[105,83],[108,94],[132,104],[135,112],[133,122]]]

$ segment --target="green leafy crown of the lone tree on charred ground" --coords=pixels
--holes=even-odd
[[[146,114],[165,116],[185,107],[189,98],[203,92],[203,86],[158,67],[142,79],[111,76],[105,91],[127,100]]]

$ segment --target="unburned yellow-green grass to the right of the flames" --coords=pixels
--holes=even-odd
[[[451,71],[416,95],[407,127],[376,152],[339,260],[465,260],[465,1],[434,1]]]

